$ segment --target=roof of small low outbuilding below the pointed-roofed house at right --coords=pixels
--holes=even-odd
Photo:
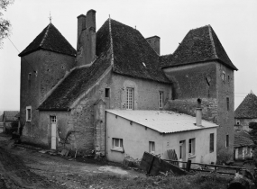
[[[249,147],[254,145],[251,136],[243,131],[234,132],[234,148]]]

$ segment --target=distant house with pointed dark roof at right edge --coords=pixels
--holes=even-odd
[[[257,96],[252,91],[234,111],[234,129],[249,131],[250,122],[257,122]]]

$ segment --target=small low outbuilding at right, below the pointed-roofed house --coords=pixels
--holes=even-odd
[[[234,132],[234,160],[252,158],[254,142],[246,131]]]

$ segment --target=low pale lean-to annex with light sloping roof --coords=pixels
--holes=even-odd
[[[140,159],[148,151],[169,159],[168,150],[175,149],[182,161],[216,162],[218,126],[196,122],[179,112],[106,110],[106,157],[123,162],[126,156]]]

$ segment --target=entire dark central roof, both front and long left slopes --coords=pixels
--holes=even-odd
[[[96,32],[96,56],[98,58],[93,65],[74,69],[38,109],[69,110],[70,105],[78,96],[94,85],[96,80],[111,66],[111,38],[115,73],[170,83],[159,67],[159,56],[142,37],[142,34],[115,20],[111,20],[110,32],[109,20],[107,20]]]

